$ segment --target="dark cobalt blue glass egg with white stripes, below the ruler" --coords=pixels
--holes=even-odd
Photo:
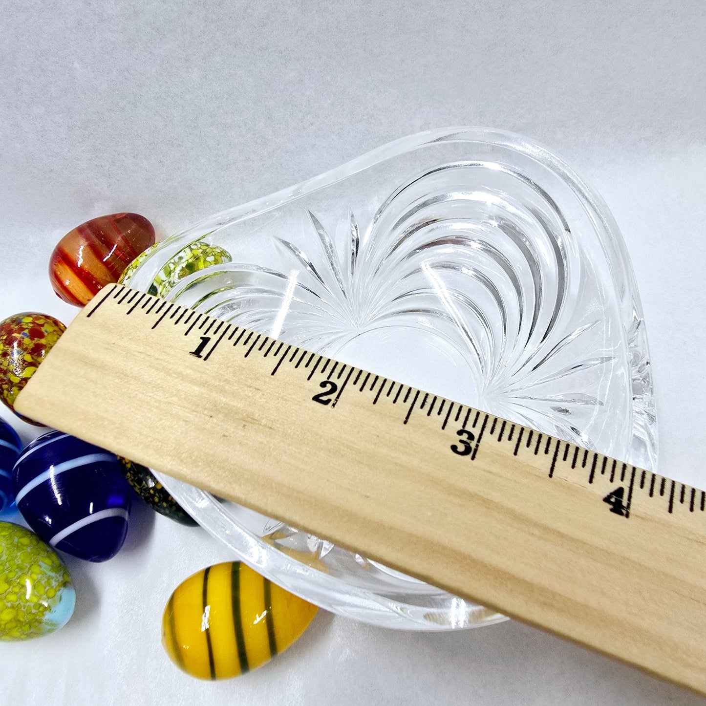
[[[50,431],[20,455],[13,489],[28,525],[55,549],[106,561],[123,546],[131,489],[109,451]]]

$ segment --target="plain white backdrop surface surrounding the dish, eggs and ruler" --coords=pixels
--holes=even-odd
[[[164,236],[422,129],[517,131],[613,211],[650,335],[659,469],[706,485],[701,0],[0,0],[0,30],[0,318],[68,323],[47,261],[90,217],[136,211]],[[201,683],[162,651],[162,608],[226,558],[138,508],[119,556],[67,559],[66,628],[0,645],[0,704],[701,702],[515,622],[423,635],[323,613],[263,669]]]

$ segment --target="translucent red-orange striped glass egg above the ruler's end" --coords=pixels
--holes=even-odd
[[[137,213],[114,213],[86,221],[69,231],[49,259],[54,292],[83,306],[155,243],[155,229]]]

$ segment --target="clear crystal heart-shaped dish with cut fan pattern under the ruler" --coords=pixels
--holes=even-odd
[[[189,274],[196,254],[209,266]],[[170,237],[130,285],[654,468],[647,339],[623,240],[599,196],[526,138],[457,128],[397,140]],[[163,480],[242,561],[337,614],[413,630],[503,619]]]

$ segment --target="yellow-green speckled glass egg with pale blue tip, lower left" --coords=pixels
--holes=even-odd
[[[30,530],[0,522],[0,640],[53,633],[66,625],[74,604],[59,555]]]

